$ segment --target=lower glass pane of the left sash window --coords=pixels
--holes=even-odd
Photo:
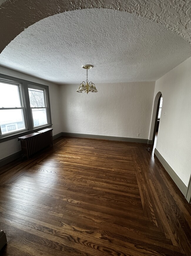
[[[22,109],[1,109],[0,110],[1,133],[12,133],[25,129]]]

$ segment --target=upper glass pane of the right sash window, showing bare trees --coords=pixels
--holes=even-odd
[[[44,100],[44,90],[29,88],[31,107],[46,107]]]

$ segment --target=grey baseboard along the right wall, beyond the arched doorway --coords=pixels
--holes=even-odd
[[[186,196],[187,194],[187,186],[184,184],[184,182],[178,177],[178,175],[175,173],[175,171],[170,167],[170,165],[166,162],[166,160],[161,156],[161,154],[158,152],[158,150],[155,148],[154,151],[155,156],[158,158],[158,160],[161,162],[167,173],[170,175],[172,180],[175,182],[177,187],[180,189],[182,194]]]

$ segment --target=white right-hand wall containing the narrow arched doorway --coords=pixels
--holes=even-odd
[[[191,58],[156,81],[162,112],[156,149],[188,185],[191,174]]]

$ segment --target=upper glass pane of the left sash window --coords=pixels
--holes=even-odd
[[[0,108],[22,107],[19,97],[19,87],[13,84],[0,82]]]

